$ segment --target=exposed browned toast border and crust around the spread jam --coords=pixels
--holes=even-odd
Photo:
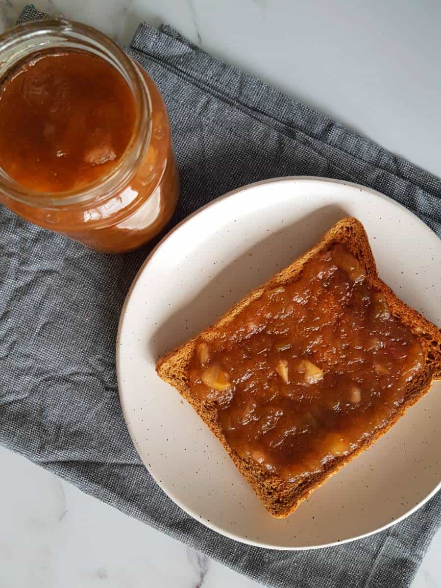
[[[195,353],[196,340],[202,336],[206,341],[216,338],[218,328],[228,325],[238,313],[242,312],[250,302],[262,296],[263,292],[280,285],[295,282],[302,274],[305,263],[326,252],[335,243],[341,243],[358,260],[366,272],[368,285],[375,288],[385,296],[387,305],[393,316],[398,318],[403,325],[412,330],[422,346],[425,366],[418,375],[407,384],[405,389],[405,402],[396,410],[389,422],[381,429],[377,429],[369,439],[366,439],[357,449],[349,455],[336,457],[327,463],[322,472],[313,473],[303,477],[300,482],[286,482],[278,475],[269,473],[252,459],[240,457],[230,447],[219,425],[218,408],[214,403],[199,400],[192,395],[189,387],[188,367]],[[339,220],[319,242],[296,259],[291,265],[276,273],[265,284],[250,292],[245,298],[236,303],[225,315],[211,328],[199,333],[198,338],[189,340],[179,348],[167,353],[158,360],[156,372],[165,382],[175,387],[181,395],[188,400],[202,420],[218,437],[222,445],[229,453],[231,459],[238,467],[240,473],[252,486],[256,495],[262,500],[269,513],[275,517],[286,517],[305,500],[313,490],[321,486],[330,476],[338,472],[340,467],[348,463],[353,457],[368,449],[380,436],[384,435],[397,420],[403,416],[409,406],[412,406],[429,390],[434,379],[441,379],[441,330],[426,320],[420,313],[407,306],[397,298],[395,293],[378,276],[375,260],[370,249],[368,236],[363,225],[355,218]]]

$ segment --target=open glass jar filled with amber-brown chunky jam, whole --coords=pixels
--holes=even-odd
[[[106,253],[152,239],[179,176],[161,93],[95,29],[36,21],[0,36],[0,201]]]

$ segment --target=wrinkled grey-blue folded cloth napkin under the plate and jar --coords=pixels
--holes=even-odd
[[[19,22],[42,16],[28,6]],[[170,114],[182,178],[173,223],[246,183],[315,175],[375,188],[441,236],[441,181],[430,173],[168,26],[140,25],[126,51],[158,84]],[[119,313],[152,245],[101,255],[3,206],[0,223],[0,443],[267,586],[410,585],[440,526],[441,493],[385,532],[309,552],[243,545],[179,509],[133,448],[115,378]]]

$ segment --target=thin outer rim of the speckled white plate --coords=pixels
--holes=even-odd
[[[385,525],[383,525],[382,527],[379,527],[378,529],[357,535],[355,537],[349,537],[348,539],[336,540],[336,541],[330,542],[330,543],[321,543],[321,544],[308,545],[308,546],[291,546],[291,547],[286,546],[286,545],[277,546],[277,545],[268,544],[268,543],[265,543],[262,541],[255,541],[255,540],[249,539],[248,537],[243,537],[238,534],[231,533],[228,530],[221,529],[218,525],[213,524],[208,519],[205,519],[204,517],[200,517],[200,515],[198,513],[193,512],[193,510],[191,508],[185,506],[178,497],[172,496],[172,493],[168,492],[168,490],[166,490],[162,486],[162,484],[159,482],[157,477],[153,474],[148,463],[146,463],[146,460],[143,458],[143,456],[141,455],[141,452],[138,450],[138,444],[135,439],[135,433],[132,432],[132,427],[129,424],[130,420],[128,418],[128,408],[125,403],[125,397],[122,393],[121,376],[120,376],[120,368],[119,368],[120,362],[121,362],[121,343],[120,343],[120,340],[121,340],[121,333],[122,333],[122,329],[123,329],[123,322],[124,322],[124,319],[126,316],[126,311],[128,309],[128,305],[129,305],[131,298],[132,298],[133,290],[135,289],[136,284],[138,283],[138,280],[141,277],[141,275],[142,275],[144,269],[146,268],[146,266],[148,265],[148,263],[151,262],[153,256],[155,256],[158,253],[158,251],[162,248],[162,246],[164,245],[166,240],[168,240],[169,237],[171,237],[173,235],[173,233],[175,233],[177,230],[179,230],[187,222],[191,221],[193,217],[195,217],[196,215],[199,215],[200,213],[205,211],[205,209],[207,209],[211,206],[215,206],[219,202],[224,201],[228,198],[232,198],[233,196],[237,195],[240,192],[246,192],[250,188],[255,188],[257,186],[271,184],[271,183],[280,183],[280,182],[289,183],[289,182],[298,182],[298,181],[337,183],[340,185],[350,186],[352,188],[358,188],[358,189],[360,189],[360,191],[369,192],[373,196],[379,196],[380,199],[385,199],[385,200],[389,201],[390,203],[392,203],[393,205],[395,205],[397,208],[401,209],[402,211],[405,211],[405,213],[407,213],[407,215],[411,216],[413,219],[416,219],[416,221],[419,223],[420,226],[422,226],[422,228],[426,229],[429,233],[432,233],[432,235],[435,235],[435,237],[437,237],[436,233],[428,225],[426,225],[426,223],[423,222],[423,220],[421,220],[415,213],[413,213],[408,208],[406,208],[406,206],[403,206],[402,204],[400,204],[399,202],[397,202],[393,198],[390,198],[390,196],[386,196],[382,192],[379,192],[373,188],[369,188],[368,186],[363,186],[362,184],[359,184],[356,182],[348,182],[345,180],[340,180],[340,179],[335,179],[335,178],[323,178],[322,176],[280,176],[277,178],[269,178],[269,179],[265,179],[265,180],[260,180],[258,182],[252,182],[252,183],[246,184],[244,186],[240,186],[239,188],[235,188],[230,192],[226,192],[225,194],[218,196],[217,198],[206,203],[205,205],[196,209],[196,211],[193,211],[191,214],[186,216],[179,223],[177,223],[175,226],[173,226],[173,228],[171,230],[169,230],[169,232],[166,233],[166,235],[164,235],[163,238],[151,250],[149,255],[142,262],[142,265],[139,268],[138,272],[136,272],[135,278],[133,278],[131,286],[130,286],[130,288],[126,294],[125,300],[123,302],[123,305],[121,308],[121,313],[119,316],[119,321],[118,321],[118,330],[116,332],[116,350],[115,350],[116,381],[118,384],[118,396],[119,396],[119,402],[120,402],[121,409],[122,409],[123,419],[124,419],[126,427],[128,429],[129,436],[131,437],[133,446],[135,447],[136,453],[138,453],[138,456],[141,459],[143,465],[148,470],[148,472],[152,476],[153,480],[155,480],[156,484],[158,484],[158,486],[160,487],[162,492],[164,492],[166,494],[166,496],[168,496],[169,499],[171,499],[185,513],[187,513],[189,516],[191,516],[193,519],[195,519],[196,522],[203,524],[203,526],[206,526],[209,529],[211,529],[211,530],[213,530],[213,531],[215,531],[225,537],[228,537],[229,539],[233,539],[239,543],[252,545],[254,547],[261,547],[263,549],[281,550],[281,551],[308,551],[310,549],[325,549],[326,547],[334,547],[337,545],[343,545],[345,543],[352,543],[353,541],[356,541],[359,539],[365,539],[366,537],[369,537],[371,535],[374,535],[376,533],[380,533],[386,529],[389,529],[390,527],[395,526],[395,524],[401,522],[402,520],[405,520],[408,516],[415,513],[422,506],[424,506],[426,504],[426,502],[429,502],[429,500],[433,496],[435,496],[435,494],[441,489],[441,479],[440,479],[439,483],[437,484],[437,486],[431,492],[429,492],[429,494],[427,496],[425,496],[422,500],[420,500],[420,502],[418,502],[411,509],[409,509],[405,513],[403,513],[403,515],[401,515],[400,517],[397,517],[396,519],[390,521],[389,523],[386,523]]]

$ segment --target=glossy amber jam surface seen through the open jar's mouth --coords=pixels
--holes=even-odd
[[[135,118],[128,83],[104,59],[36,54],[0,86],[0,166],[38,192],[82,188],[121,159]]]

